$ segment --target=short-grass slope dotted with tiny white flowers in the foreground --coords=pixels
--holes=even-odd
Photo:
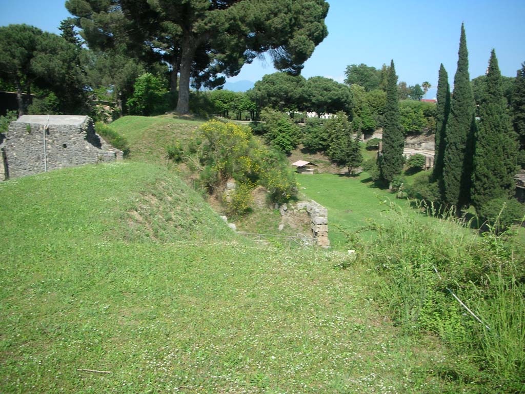
[[[455,392],[370,273],[237,239],[162,168],[58,170],[0,200],[2,392]]]

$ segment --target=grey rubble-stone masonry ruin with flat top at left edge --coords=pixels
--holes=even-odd
[[[122,160],[87,116],[24,115],[0,134],[0,181],[75,165]]]

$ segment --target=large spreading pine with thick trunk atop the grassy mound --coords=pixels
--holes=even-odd
[[[188,113],[190,79],[217,87],[258,54],[275,68],[299,74],[328,35],[324,0],[68,0],[91,49],[125,45],[141,60],[171,65],[176,110]]]

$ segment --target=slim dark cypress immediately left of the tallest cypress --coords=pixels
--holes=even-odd
[[[439,190],[443,196],[443,157],[445,154],[445,129],[448,114],[450,113],[450,85],[448,83],[447,70],[443,63],[439,67],[437,81],[437,104],[436,104],[436,134],[434,150],[434,171],[432,177],[437,181]]]

